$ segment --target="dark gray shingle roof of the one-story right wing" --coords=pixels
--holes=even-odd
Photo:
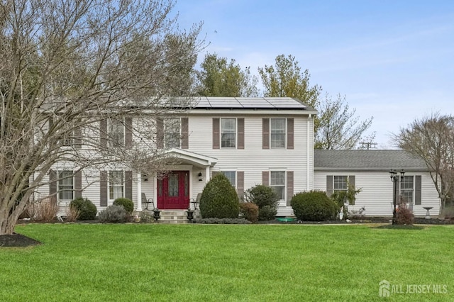
[[[419,157],[405,150],[314,150],[315,170],[427,171]]]

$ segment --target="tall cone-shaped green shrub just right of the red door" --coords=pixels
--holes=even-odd
[[[204,187],[200,196],[200,214],[203,218],[238,218],[240,201],[235,188],[219,173]]]

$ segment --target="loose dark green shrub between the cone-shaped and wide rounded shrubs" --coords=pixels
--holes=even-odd
[[[269,186],[258,184],[245,191],[245,201],[258,206],[258,220],[273,220],[277,214],[279,196]]]

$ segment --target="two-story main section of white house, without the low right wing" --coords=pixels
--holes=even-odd
[[[239,196],[257,184],[271,186],[281,198],[278,216],[289,216],[293,194],[313,188],[316,113],[291,98],[196,98],[188,111],[155,123],[157,147],[173,159],[170,172],[148,175],[110,167],[70,177],[72,170],[56,164],[50,179],[60,180],[42,193],[56,194],[63,206],[83,196],[98,211],[118,197],[131,198],[140,211],[143,193],[157,208],[187,209],[206,182],[223,173]],[[101,140],[133,145],[135,123],[133,117],[124,123],[102,121]]]

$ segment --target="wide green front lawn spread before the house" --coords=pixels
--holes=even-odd
[[[31,224],[16,232],[43,245],[0,248],[0,301],[454,300],[453,226]],[[380,298],[383,279],[403,293]],[[406,293],[409,284],[416,293]]]

